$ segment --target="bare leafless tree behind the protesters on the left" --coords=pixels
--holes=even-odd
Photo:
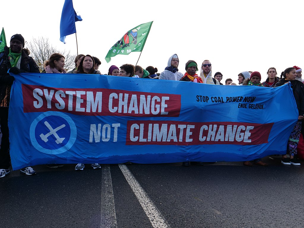
[[[25,42],[29,50],[31,51],[31,56],[37,63],[40,72],[43,71],[43,64],[46,60],[50,58],[53,53],[60,53],[65,57],[65,69],[73,69],[75,66],[74,60],[76,55],[71,54],[71,51],[60,51],[56,47],[50,44],[49,38],[39,36],[36,39],[32,39],[30,42]]]

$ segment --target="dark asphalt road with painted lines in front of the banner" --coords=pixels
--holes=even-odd
[[[0,227],[304,227],[304,161],[74,164],[0,178]],[[273,159],[274,158],[274,159]]]

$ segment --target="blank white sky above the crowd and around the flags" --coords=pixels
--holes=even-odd
[[[59,40],[64,0],[24,3],[1,2],[0,27],[8,43],[16,33],[26,41],[46,36],[53,46],[76,54],[75,34],[67,36],[66,44]],[[265,81],[269,67],[276,67],[278,76],[287,67],[304,68],[302,1],[73,0],[73,5],[83,19],[76,22],[78,53],[98,57],[103,74],[111,65],[136,64],[140,52],[117,55],[109,63],[105,56],[128,30],[150,21],[138,65],[157,67],[158,73],[174,53],[180,72],[185,73],[188,60],[200,67],[208,59],[212,73],[223,74],[223,83],[226,78],[237,83],[241,71],[259,71]]]

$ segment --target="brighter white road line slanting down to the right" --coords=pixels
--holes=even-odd
[[[119,168],[123,172],[126,180],[128,181],[132,191],[136,195],[141,207],[143,208],[144,212],[146,213],[148,219],[150,220],[152,226],[154,228],[170,228],[170,225],[161,215],[161,212],[157,209],[154,203],[150,200],[149,196],[140,186],[138,181],[135,179],[133,174],[124,164],[119,164]]]

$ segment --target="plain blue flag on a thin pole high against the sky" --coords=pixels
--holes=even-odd
[[[76,14],[72,0],[65,0],[60,20],[60,41],[63,43],[66,43],[67,35],[76,33],[75,21],[82,21],[82,18]]]

